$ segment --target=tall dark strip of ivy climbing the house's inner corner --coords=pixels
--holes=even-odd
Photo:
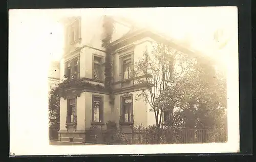
[[[102,47],[106,50],[106,59],[105,59],[105,88],[109,92],[110,102],[112,103],[114,100],[113,97],[113,75],[112,75],[112,65],[113,65],[113,57],[112,57],[112,46],[110,42],[112,40],[113,32],[114,32],[114,20],[110,16],[104,16],[103,19],[103,32],[105,33],[105,37],[102,39]]]

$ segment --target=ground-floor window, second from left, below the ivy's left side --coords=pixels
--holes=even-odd
[[[103,122],[103,97],[93,96],[93,122],[101,123]]]

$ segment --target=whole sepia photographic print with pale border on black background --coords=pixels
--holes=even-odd
[[[236,7],[9,11],[10,64],[18,60],[11,55],[17,28],[31,34],[31,46],[40,40],[26,47],[37,58],[28,62],[44,71],[31,83],[45,96],[33,105],[33,138],[43,143],[42,152],[54,147],[53,154],[67,154],[66,146],[87,148],[84,154],[93,147],[111,149],[106,153],[139,153],[136,147],[166,153],[179,146],[169,153],[239,151]],[[10,143],[16,153],[15,107]],[[164,152],[154,152],[161,147]]]

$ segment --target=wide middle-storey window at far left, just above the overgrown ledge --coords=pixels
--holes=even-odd
[[[65,75],[68,79],[77,78],[79,76],[79,58],[66,62]]]

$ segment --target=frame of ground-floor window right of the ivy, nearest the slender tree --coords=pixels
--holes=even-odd
[[[131,99],[132,102],[131,102],[131,119],[130,121],[127,121],[125,122],[125,112],[124,112],[124,100],[125,99]],[[120,116],[121,116],[121,123],[127,123],[127,124],[133,124],[134,123],[134,118],[133,118],[133,94],[131,95],[126,95],[126,96],[121,96],[120,97],[120,106],[121,106],[121,109],[120,109]],[[130,117],[130,115],[128,115],[128,117]]]

